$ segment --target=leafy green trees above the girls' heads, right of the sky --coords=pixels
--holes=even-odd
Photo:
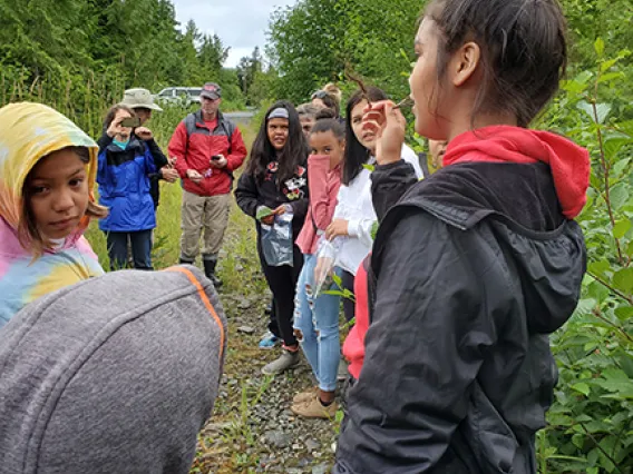
[[[422,6],[419,0],[301,0],[279,9],[271,18],[267,48],[279,72],[275,97],[302,102],[325,82],[344,81],[345,65],[368,83],[405,97],[407,81],[393,71],[407,70],[413,59]],[[356,87],[342,85],[345,92]]]

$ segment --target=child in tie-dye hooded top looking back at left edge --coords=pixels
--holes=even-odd
[[[82,237],[91,217],[97,144],[40,103],[0,109],[0,328],[25,305],[104,273]]]

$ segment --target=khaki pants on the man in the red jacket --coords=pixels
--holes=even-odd
[[[183,189],[181,259],[196,259],[203,229],[203,257],[217,256],[228,225],[230,201],[231,194],[198,196]]]

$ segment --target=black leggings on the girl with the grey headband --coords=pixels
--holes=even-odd
[[[260,255],[264,276],[266,277],[269,287],[273,293],[274,305],[271,316],[274,314],[283,344],[290,347],[299,344],[296,337],[294,337],[292,318],[294,315],[294,293],[296,290],[296,282],[299,280],[301,267],[303,267],[303,254],[301,254],[301,250],[296,245],[293,245],[292,250],[292,258],[294,263],[292,267],[289,265],[271,267],[266,264],[266,259],[262,253],[261,240],[257,238],[257,254]],[[272,330],[272,333],[274,334],[274,330]]]

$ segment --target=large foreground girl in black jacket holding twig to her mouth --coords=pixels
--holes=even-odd
[[[362,371],[334,474],[535,474],[553,402],[547,335],[573,314],[586,250],[585,149],[528,124],[566,63],[556,0],[434,0],[410,76],[416,131],[447,140],[416,181],[406,120],[366,109],[380,138]]]

